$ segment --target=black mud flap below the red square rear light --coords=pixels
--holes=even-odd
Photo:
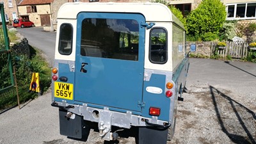
[[[139,127],[139,144],[166,144],[168,136],[167,129],[156,129],[154,127]]]

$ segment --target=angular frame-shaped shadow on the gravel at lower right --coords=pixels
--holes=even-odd
[[[256,126],[253,124],[253,120],[256,120],[255,113],[213,86],[209,86],[209,88],[221,130],[225,132],[228,138],[234,143],[256,144]],[[236,116],[228,118],[228,116],[225,115],[225,113],[228,112],[226,111],[227,109],[234,112],[228,115]]]

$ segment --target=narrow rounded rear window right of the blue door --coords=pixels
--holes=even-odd
[[[152,63],[163,64],[167,61],[167,33],[164,28],[154,28],[150,31],[149,60]]]

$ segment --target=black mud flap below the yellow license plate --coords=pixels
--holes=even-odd
[[[71,138],[81,139],[83,137],[83,117],[76,115],[74,119],[66,118],[67,111],[59,109],[60,134]]]

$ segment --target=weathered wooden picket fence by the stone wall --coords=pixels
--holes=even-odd
[[[221,57],[231,56],[231,58],[244,59],[248,56],[248,43],[226,42],[225,48],[218,48],[218,42],[211,43],[211,56],[217,52]],[[218,49],[217,49],[218,48]]]

